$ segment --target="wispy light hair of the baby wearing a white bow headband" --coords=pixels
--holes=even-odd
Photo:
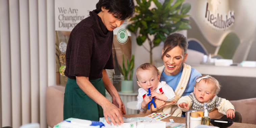
[[[207,75],[202,75],[202,76],[198,77],[197,79],[202,78],[202,77],[205,77],[205,76],[207,76]],[[216,92],[215,92],[216,95],[220,92],[220,90],[221,90],[221,85],[220,85],[219,81],[217,81],[214,77],[210,76],[210,77],[208,77],[208,78],[203,78],[203,79],[201,79],[200,81],[202,81],[202,80],[205,82],[205,84],[214,83],[214,85],[215,85],[215,87],[216,87]],[[199,82],[200,82],[200,81],[199,81]],[[196,87],[197,85],[198,85],[198,82],[196,82],[195,87]]]

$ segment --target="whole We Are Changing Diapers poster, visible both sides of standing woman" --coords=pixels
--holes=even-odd
[[[55,0],[55,49],[56,49],[56,84],[65,86],[67,77],[64,75],[66,69],[66,48],[72,29],[83,19],[89,16],[89,12],[96,9],[98,0]],[[107,70],[109,78],[118,91],[121,91],[121,80],[124,79],[120,73],[119,66],[125,60],[131,59],[131,34],[126,30],[125,21],[120,27],[114,29],[113,58],[114,70]]]

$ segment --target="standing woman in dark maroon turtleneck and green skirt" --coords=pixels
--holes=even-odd
[[[64,95],[64,120],[99,121],[108,117],[116,125],[126,114],[120,96],[105,69],[114,69],[113,30],[134,13],[133,0],[99,0],[89,17],[72,30],[66,51],[68,77]],[[105,89],[113,103],[105,98]]]

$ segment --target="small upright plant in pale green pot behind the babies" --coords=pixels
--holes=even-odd
[[[120,71],[124,76],[124,80],[121,82],[121,92],[122,93],[133,93],[133,70],[134,70],[134,55],[132,55],[131,60],[127,59],[127,65],[125,66],[125,59],[123,54],[123,68],[119,65]]]

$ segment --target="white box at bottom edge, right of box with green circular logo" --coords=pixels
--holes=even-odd
[[[137,122],[137,128],[165,128],[166,122],[157,121],[157,122]]]

